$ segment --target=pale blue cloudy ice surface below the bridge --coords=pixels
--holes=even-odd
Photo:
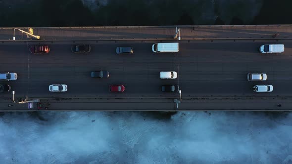
[[[292,164],[291,113],[164,115],[5,113],[0,164]]]

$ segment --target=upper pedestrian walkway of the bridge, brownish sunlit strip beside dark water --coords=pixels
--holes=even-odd
[[[180,29],[181,40],[292,39],[292,25],[35,27],[33,31],[45,41],[173,40],[176,27]],[[28,31],[28,28],[18,29]],[[13,30],[0,28],[0,41],[12,41]],[[15,30],[15,40],[27,40],[27,37]]]

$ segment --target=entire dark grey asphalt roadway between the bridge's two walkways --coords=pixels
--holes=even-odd
[[[168,41],[169,42],[169,41]],[[72,53],[78,43],[91,45],[90,53]],[[291,97],[292,41],[179,41],[178,53],[153,53],[154,41],[38,41],[0,43],[0,72],[16,72],[11,91],[0,98],[62,97],[179,97],[160,91],[163,84],[179,84],[183,98]],[[261,54],[262,44],[285,44],[281,54]],[[49,45],[48,54],[30,54],[30,45]],[[117,55],[117,46],[132,46],[133,55]],[[109,71],[109,79],[93,79],[91,71]],[[175,80],[161,80],[160,71],[176,71]],[[248,82],[247,73],[266,73],[265,82]],[[49,84],[67,84],[67,92],[49,92]],[[123,84],[113,93],[109,85]],[[273,92],[256,93],[255,84],[272,84]]]

